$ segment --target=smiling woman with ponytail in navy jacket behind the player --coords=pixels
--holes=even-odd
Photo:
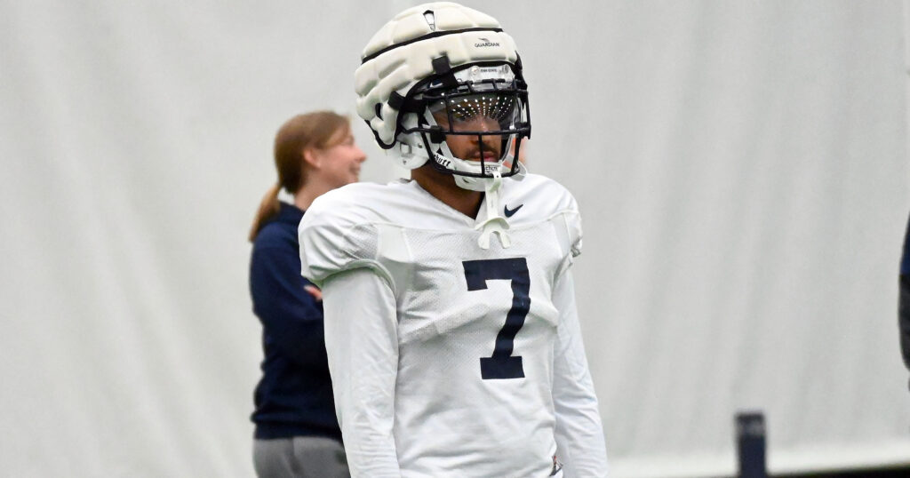
[[[297,227],[321,194],[357,182],[366,160],[347,117],[292,117],[275,137],[278,182],[250,229],[249,290],[262,322],[262,380],[256,387],[253,462],[260,478],[347,477],[335,417],[319,290],[300,275]],[[278,200],[284,188],[294,203]]]

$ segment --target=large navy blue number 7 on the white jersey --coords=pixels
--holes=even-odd
[[[483,380],[521,379],[524,368],[521,356],[512,357],[515,334],[524,325],[524,318],[531,307],[531,278],[528,275],[528,261],[524,258],[465,260],[464,277],[468,290],[487,289],[487,280],[511,280],[512,306],[506,315],[506,323],[496,336],[493,355],[480,358],[480,376]]]

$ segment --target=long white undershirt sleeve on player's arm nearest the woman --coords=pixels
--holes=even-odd
[[[400,478],[392,434],[399,360],[395,298],[388,283],[367,269],[329,276],[322,293],[335,411],[351,477]]]

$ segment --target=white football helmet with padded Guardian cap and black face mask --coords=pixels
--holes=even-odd
[[[415,6],[383,25],[361,59],[357,112],[380,147],[398,148],[402,167],[431,160],[480,191],[523,173],[509,145],[531,137],[528,90],[515,44],[494,18],[450,2]],[[447,136],[472,137],[470,157],[456,157]]]

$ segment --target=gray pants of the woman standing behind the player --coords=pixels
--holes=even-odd
[[[341,443],[315,436],[254,440],[253,465],[259,478],[350,477]]]

